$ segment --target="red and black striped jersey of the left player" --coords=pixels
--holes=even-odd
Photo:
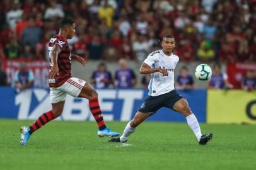
[[[49,79],[50,88],[57,88],[64,84],[71,77],[71,50],[67,39],[62,35],[54,35],[50,38],[49,42],[49,56],[52,55],[52,48],[54,45],[58,45],[61,48],[61,52],[58,55],[57,64],[59,68],[59,76],[55,75],[54,79]],[[52,62],[50,60],[50,68],[52,68]]]

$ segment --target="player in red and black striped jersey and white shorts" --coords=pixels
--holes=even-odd
[[[78,60],[82,65],[85,65],[85,60],[82,57],[71,54],[69,44],[67,43],[67,39],[73,38],[75,32],[74,21],[65,18],[61,21],[59,35],[55,35],[50,39],[49,86],[52,110],[42,114],[30,127],[21,127],[21,145],[26,145],[33,132],[61,115],[67,94],[78,98],[89,99],[91,113],[98,124],[99,137],[115,137],[119,135],[119,133],[112,132],[105,125],[98,103],[98,94],[95,89],[88,82],[71,77],[71,59]]]

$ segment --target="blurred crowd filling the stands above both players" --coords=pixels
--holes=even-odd
[[[44,59],[64,16],[76,23],[74,54],[91,60],[142,61],[172,33],[190,62],[255,62],[255,0],[3,0],[1,59]]]

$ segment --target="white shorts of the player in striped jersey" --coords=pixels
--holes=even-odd
[[[50,88],[50,103],[65,101],[67,94],[78,97],[85,83],[82,79],[72,77],[57,88]]]

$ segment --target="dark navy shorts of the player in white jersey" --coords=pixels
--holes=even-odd
[[[166,107],[174,110],[173,106],[177,101],[179,101],[182,98],[183,97],[180,96],[180,94],[178,94],[175,89],[170,91],[169,93],[161,94],[159,96],[148,96],[144,100],[143,105],[141,105],[138,111],[141,113],[154,114],[161,107]]]

